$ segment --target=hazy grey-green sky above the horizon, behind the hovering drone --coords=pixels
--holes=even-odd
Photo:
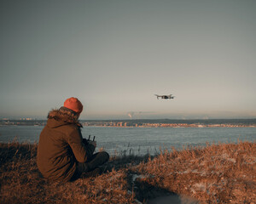
[[[256,117],[256,1],[0,2],[0,118]],[[173,94],[156,99],[154,94]]]

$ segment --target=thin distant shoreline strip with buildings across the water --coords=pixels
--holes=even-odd
[[[80,120],[84,127],[256,127],[256,119]],[[0,126],[45,126],[47,120],[0,120]]]

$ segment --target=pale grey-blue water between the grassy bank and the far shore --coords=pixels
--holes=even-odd
[[[0,142],[38,143],[44,126],[0,126]],[[256,127],[83,127],[83,138],[96,136],[96,150],[112,156],[156,155],[207,144],[256,140]]]

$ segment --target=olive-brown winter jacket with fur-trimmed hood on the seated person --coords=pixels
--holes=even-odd
[[[81,124],[69,111],[49,112],[47,125],[38,142],[38,169],[44,178],[67,181],[72,178],[77,162],[85,162],[95,147],[84,144]]]

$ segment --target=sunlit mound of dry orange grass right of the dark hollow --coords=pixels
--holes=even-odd
[[[140,182],[190,195],[201,203],[255,203],[256,144],[212,144],[161,152],[133,167]]]

